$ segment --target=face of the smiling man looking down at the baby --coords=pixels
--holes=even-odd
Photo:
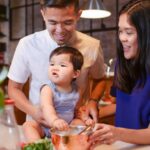
[[[80,13],[75,13],[74,6],[46,8],[41,13],[50,36],[57,44],[66,44],[72,37]]]

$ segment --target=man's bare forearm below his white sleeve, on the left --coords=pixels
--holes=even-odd
[[[41,111],[38,107],[33,106],[22,91],[23,84],[13,80],[8,81],[8,95],[15,101],[16,107],[26,114],[32,116],[36,121],[44,123]]]

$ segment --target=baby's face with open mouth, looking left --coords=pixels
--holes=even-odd
[[[70,54],[54,55],[49,65],[49,78],[59,85],[68,85],[75,78],[73,64],[70,62]]]

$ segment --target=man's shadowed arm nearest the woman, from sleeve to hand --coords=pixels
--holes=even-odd
[[[98,122],[98,101],[103,96],[106,86],[104,57],[100,43],[98,46],[98,50],[95,52],[96,60],[90,69],[90,76],[93,82],[93,89],[88,100],[87,112],[95,122]]]

